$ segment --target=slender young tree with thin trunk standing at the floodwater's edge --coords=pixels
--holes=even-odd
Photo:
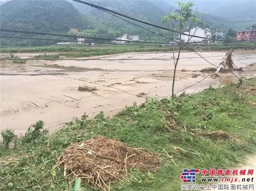
[[[173,30],[172,39],[173,39],[173,60],[174,60],[174,75],[173,75],[173,85],[172,85],[172,98],[174,98],[174,86],[175,86],[175,75],[176,69],[180,58],[180,53],[182,48],[191,40],[192,36],[188,37],[188,40],[185,44],[182,43],[182,33],[185,31],[191,31],[191,29],[201,25],[200,13],[198,11],[193,11],[194,3],[192,2],[177,2],[178,9],[175,12],[170,12],[169,15],[162,17],[162,22],[166,23],[167,26]],[[195,30],[196,32],[197,30]],[[194,35],[190,34],[189,35]],[[178,54],[175,57],[175,36],[179,37],[179,46]]]

